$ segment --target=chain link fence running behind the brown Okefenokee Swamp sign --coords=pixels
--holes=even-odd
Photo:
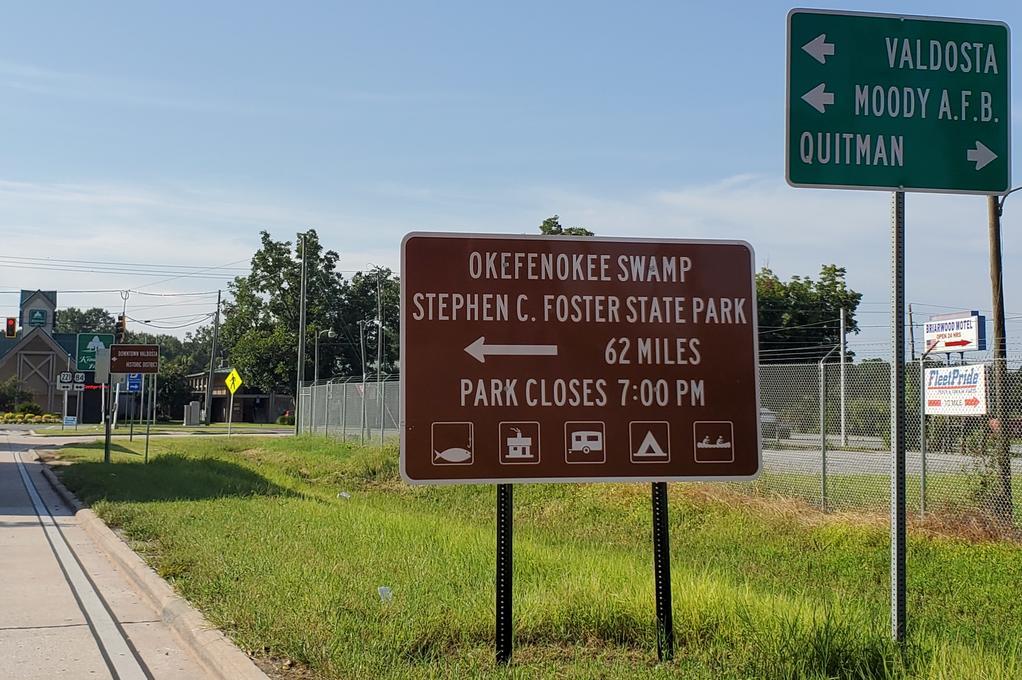
[[[1007,527],[1022,519],[1022,366],[990,361],[985,415],[923,415],[928,360],[905,371],[910,513]],[[760,366],[763,471],[747,493],[797,498],[826,510],[887,512],[890,367],[885,361]],[[379,442],[399,437],[400,382],[335,378],[301,391],[300,432]],[[921,437],[921,433],[924,437]]]

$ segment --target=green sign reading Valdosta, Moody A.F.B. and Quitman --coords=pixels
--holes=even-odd
[[[791,10],[788,183],[1007,191],[1009,49],[1001,22]]]

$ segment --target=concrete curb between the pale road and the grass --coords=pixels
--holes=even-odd
[[[40,461],[42,462],[42,461]],[[63,486],[50,466],[43,463],[43,477],[75,510],[79,526],[131,580],[205,669],[220,680],[268,680],[256,663],[217,630],[199,611],[174,592],[134,550],[85,507]]]

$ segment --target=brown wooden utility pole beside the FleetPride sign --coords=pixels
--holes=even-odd
[[[1010,192],[1009,192],[1010,193]],[[1005,194],[1005,198],[1008,194]],[[1001,215],[1004,212],[1004,198],[987,196],[987,217],[989,222],[990,240],[990,291],[993,298],[993,418],[997,423],[995,438],[996,452],[994,463],[997,469],[998,484],[992,498],[994,514],[1006,524],[1014,524],[1014,505],[1012,504],[1012,459],[1009,437],[1006,432],[1008,422],[1006,415],[1005,373],[1007,366],[1007,347],[1005,338],[1005,290],[1001,258]]]

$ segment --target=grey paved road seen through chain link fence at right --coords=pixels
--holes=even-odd
[[[769,447],[769,443],[766,443]],[[973,456],[949,453],[928,453],[927,474],[951,474],[974,470],[983,460]],[[763,467],[773,472],[820,473],[820,451],[777,450],[763,448]],[[907,452],[904,459],[908,474],[920,474],[922,457],[919,452]],[[833,474],[887,474],[890,471],[890,453],[886,451],[828,451],[827,471]],[[1012,472],[1022,474],[1022,459],[1012,459]]]

